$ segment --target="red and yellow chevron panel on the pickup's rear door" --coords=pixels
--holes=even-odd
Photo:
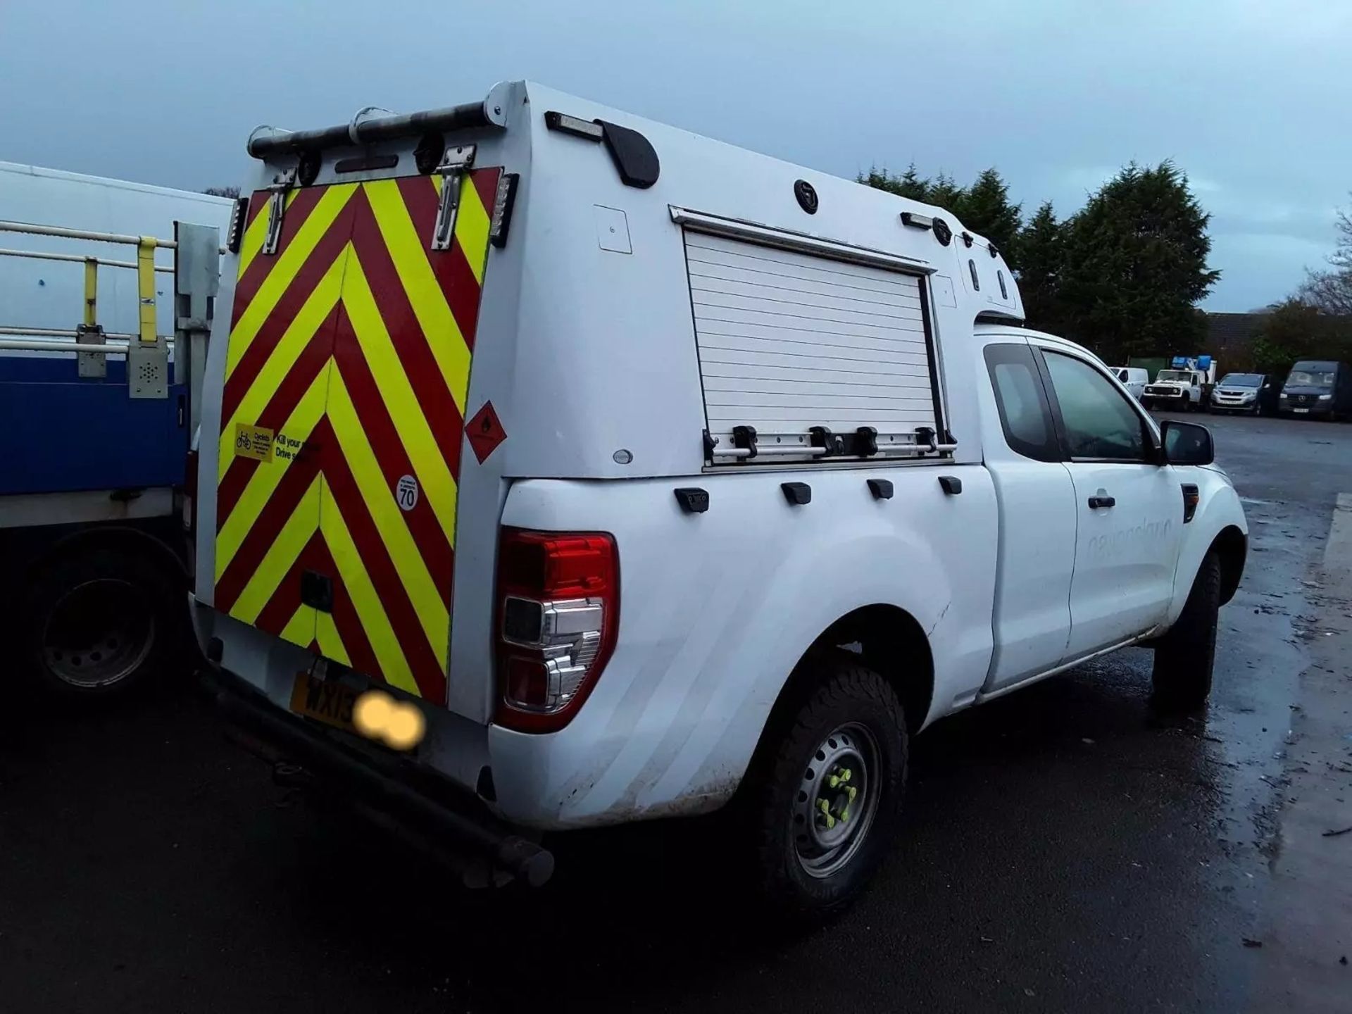
[[[441,177],[293,191],[274,256],[254,193],[226,350],[216,608],[430,700],[498,174],[462,181],[445,251],[429,249]],[[331,612],[301,603],[306,572],[331,579]]]

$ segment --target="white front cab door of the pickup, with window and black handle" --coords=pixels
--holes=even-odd
[[[1121,644],[1164,619],[1183,525],[1178,476],[1155,460],[1155,427],[1088,358],[1038,352],[1078,527],[1064,661]]]

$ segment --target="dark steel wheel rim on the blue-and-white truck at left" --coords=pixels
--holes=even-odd
[[[97,577],[68,589],[42,627],[42,662],[62,683],[95,690],[134,673],[155,642],[155,618],[131,581]]]

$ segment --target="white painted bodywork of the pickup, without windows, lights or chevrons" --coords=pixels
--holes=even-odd
[[[481,462],[462,456],[448,700],[425,702],[418,753],[470,791],[491,768],[504,817],[572,827],[714,808],[745,773],[795,665],[842,617],[884,607],[923,634],[930,658],[914,668],[932,664],[933,690],[911,717],[919,726],[1101,650],[1106,637],[1160,633],[1217,533],[1244,530],[1221,473],[1137,464],[1111,476],[1132,512],[1078,537],[1090,525],[1084,491],[1110,477],[1006,446],[983,349],[1032,341],[1098,361],[1009,323],[979,324],[1018,320],[1018,291],[998,251],[964,239],[944,210],[534,84],[508,92],[507,128],[473,135],[476,165],[519,173],[521,185],[510,238],[488,256],[465,406],[468,416],[491,400],[508,438]],[[549,130],[546,111],[642,132],[660,178],[623,185],[599,143]],[[258,183],[283,168],[264,165]],[[318,185],[335,178],[326,164]],[[796,180],[815,189],[815,214],[795,203]],[[902,212],[942,218],[952,242],[903,224]],[[220,426],[226,316],[204,433]],[[753,464],[708,454],[706,430],[722,439],[748,423],[933,426],[956,449]],[[216,446],[203,441],[206,516]],[[1182,552],[1180,472],[1203,487]],[[941,476],[961,493],[946,493]],[[869,492],[877,479],[891,499]],[[786,500],[781,484],[795,481],[811,487],[811,503]],[[704,489],[708,511],[683,512],[677,487]],[[1172,495],[1174,541],[1153,539],[1160,489]],[[1149,538],[1121,535],[1137,526]],[[500,527],[608,533],[619,553],[614,654],[577,714],[548,734],[493,721]],[[211,607],[214,552],[204,533],[200,637],[220,638],[224,665],[285,708],[312,656]],[[1134,583],[1126,614],[1110,595],[1122,579]]]

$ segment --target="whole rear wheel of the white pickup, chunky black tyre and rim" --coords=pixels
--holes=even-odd
[[[842,650],[803,667],[795,685],[808,690],[767,730],[745,800],[758,894],[794,923],[841,911],[887,857],[907,758],[887,680]]]

